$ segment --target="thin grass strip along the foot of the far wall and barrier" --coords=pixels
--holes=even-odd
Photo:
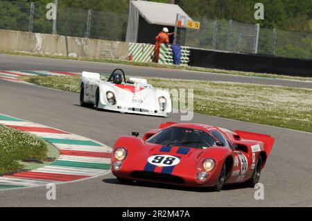
[[[6,54],[11,54],[11,55],[28,55],[28,56],[34,56],[34,57],[40,57],[40,58],[80,60],[80,61],[86,61],[86,62],[128,64],[128,65],[139,66],[139,67],[159,67],[159,68],[164,68],[164,69],[200,71],[200,72],[216,73],[216,74],[223,73],[223,74],[231,74],[235,76],[251,76],[251,77],[259,77],[259,78],[278,78],[278,79],[284,79],[284,80],[312,81],[312,78],[305,78],[305,77],[298,77],[298,76],[285,76],[285,75],[279,75],[279,74],[273,74],[273,73],[254,73],[254,72],[246,72],[246,71],[232,71],[232,70],[225,70],[225,69],[210,69],[210,68],[202,68],[202,67],[184,67],[184,66],[168,65],[168,64],[133,62],[133,61],[128,61],[128,60],[112,60],[112,59],[101,59],[101,58],[74,58],[74,57],[69,57],[69,56],[40,55],[37,53],[21,53],[21,52],[11,52],[11,51],[0,51],[0,53],[6,53]]]

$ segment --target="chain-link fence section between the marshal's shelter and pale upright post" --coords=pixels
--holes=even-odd
[[[217,51],[257,53],[259,26],[232,20],[209,21],[197,18],[193,20],[200,21],[200,29],[177,28],[177,44]]]

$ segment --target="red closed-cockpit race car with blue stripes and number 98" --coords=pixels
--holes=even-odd
[[[200,123],[167,122],[143,139],[121,136],[114,145],[112,173],[121,182],[142,180],[194,187],[259,182],[274,139]]]

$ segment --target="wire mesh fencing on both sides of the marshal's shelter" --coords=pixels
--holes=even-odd
[[[0,1],[0,29],[53,33],[46,5],[26,1]],[[200,29],[177,28],[177,44],[238,53],[260,53],[312,59],[312,34],[259,28],[236,21],[200,21]],[[128,15],[75,8],[58,8],[59,35],[125,41]]]

